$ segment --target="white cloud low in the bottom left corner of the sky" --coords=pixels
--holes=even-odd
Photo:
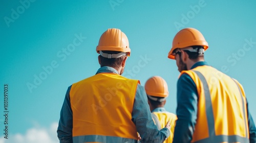
[[[34,127],[28,129],[26,134],[10,134],[8,139],[2,136],[0,143],[57,143],[59,142],[56,132],[57,127],[58,123],[52,123],[51,127],[48,129]]]

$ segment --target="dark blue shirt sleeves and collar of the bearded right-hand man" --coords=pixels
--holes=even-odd
[[[209,65],[207,62],[201,61],[195,63],[191,69]],[[197,120],[197,103],[198,92],[197,86],[193,79],[187,74],[182,74],[177,82],[177,117],[175,131],[174,131],[174,143],[190,142],[195,131],[195,125]],[[248,110],[248,125],[249,125],[249,138],[250,142],[256,142],[256,128],[252,117]]]

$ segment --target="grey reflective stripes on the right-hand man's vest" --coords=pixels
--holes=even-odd
[[[201,80],[201,82],[203,83],[203,88],[204,88],[204,94],[205,94],[205,108],[206,108],[206,116],[207,116],[207,125],[208,125],[208,133],[209,133],[209,137],[205,138],[205,139],[201,139],[196,141],[197,143],[203,143],[203,142],[249,142],[248,139],[248,133],[246,130],[246,137],[242,137],[239,135],[216,135],[215,133],[215,120],[214,120],[214,113],[213,113],[213,109],[212,109],[212,103],[211,103],[211,97],[210,97],[210,92],[209,92],[209,87],[207,84],[207,81],[205,79],[205,77],[197,70],[193,70],[199,77],[199,79]],[[238,85],[238,83],[236,81],[234,81],[240,91],[240,95],[241,95],[241,99],[243,100],[242,97],[242,92],[241,89]],[[245,117],[245,105],[244,105],[244,100],[242,101],[243,104],[243,115]],[[245,121],[245,127],[247,126],[246,121]]]

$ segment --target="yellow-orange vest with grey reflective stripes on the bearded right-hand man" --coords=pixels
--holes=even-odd
[[[191,142],[249,142],[242,85],[208,65],[181,74],[193,79],[198,92],[197,123]]]

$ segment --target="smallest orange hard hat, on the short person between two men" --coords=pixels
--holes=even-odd
[[[166,98],[169,94],[166,81],[159,76],[148,79],[145,83],[145,90],[148,96],[153,97]]]

